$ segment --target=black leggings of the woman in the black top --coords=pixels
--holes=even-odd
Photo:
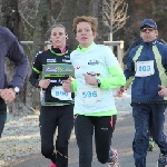
[[[68,167],[68,141],[73,128],[73,105],[42,106],[39,120],[42,155],[57,164],[57,167]]]

